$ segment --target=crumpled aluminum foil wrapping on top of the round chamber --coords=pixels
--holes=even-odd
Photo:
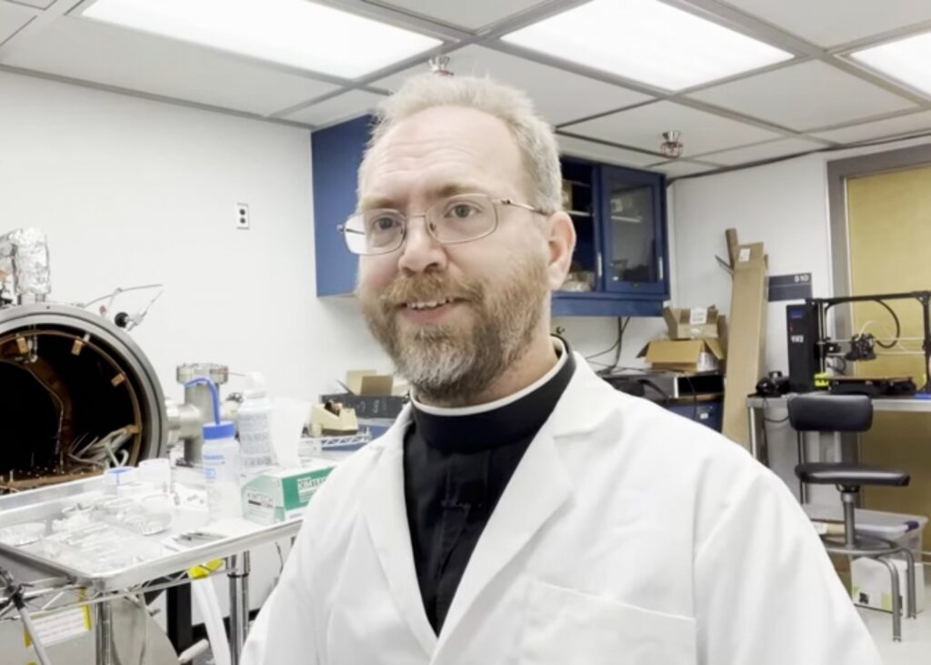
[[[51,292],[46,235],[20,228],[0,236],[0,271],[7,273],[6,285],[18,301],[45,300]]]

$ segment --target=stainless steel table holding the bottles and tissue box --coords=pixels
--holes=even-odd
[[[0,527],[47,519],[49,514],[77,501],[82,495],[99,493],[103,489],[100,477],[62,483],[30,492],[0,497]],[[119,570],[88,572],[49,560],[35,551],[0,544],[0,565],[12,569],[22,581],[31,582],[26,600],[32,611],[51,608],[92,606],[96,621],[98,665],[114,665],[109,602],[116,598],[142,592],[168,589],[187,584],[187,571],[198,564],[225,559],[225,572],[230,579],[230,652],[234,665],[239,661],[249,626],[250,573],[249,550],[263,543],[297,535],[300,520],[270,525],[242,519],[208,523],[202,515],[176,520],[170,531],[145,536],[161,542],[192,528],[209,530],[223,537],[181,551],[163,549],[157,558],[129,565]],[[24,579],[25,578],[25,579]],[[155,581],[157,580],[157,581]],[[0,600],[5,600],[0,594]],[[7,606],[7,611],[13,608]],[[0,614],[0,618],[3,615]]]

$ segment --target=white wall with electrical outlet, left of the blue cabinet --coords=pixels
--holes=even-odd
[[[167,395],[185,361],[308,399],[347,368],[387,369],[355,303],[315,297],[307,130],[2,73],[0,100],[0,233],[47,233],[58,301],[164,283],[132,336]]]

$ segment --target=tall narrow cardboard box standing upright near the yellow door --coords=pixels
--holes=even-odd
[[[762,242],[738,245],[734,253],[722,431],[724,436],[749,448],[747,397],[756,391],[757,382],[765,374],[769,279]]]

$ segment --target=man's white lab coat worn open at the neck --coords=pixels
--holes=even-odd
[[[411,414],[331,475],[246,665],[878,665],[815,530],[747,452],[577,368],[439,635],[404,507]]]

